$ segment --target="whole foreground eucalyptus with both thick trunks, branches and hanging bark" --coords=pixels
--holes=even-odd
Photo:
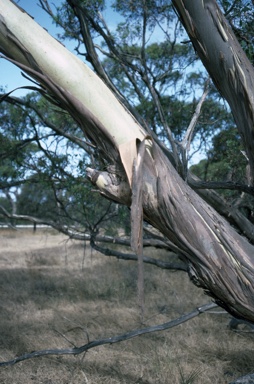
[[[215,192],[202,189],[209,185],[200,183],[188,172],[189,147],[201,103],[197,104],[186,133],[177,140],[165,117],[158,79],[151,73],[147,58],[148,33],[156,23],[164,29],[172,17],[171,3],[155,2],[153,8],[147,2],[132,3],[138,11],[135,13],[128,8],[129,2],[116,2],[116,8],[120,7],[130,22],[136,18],[137,27],[131,34],[135,49],[135,39],[141,36],[138,56],[135,49],[128,52],[127,47],[125,52],[109,31],[101,17],[101,2],[93,8],[90,3],[80,1],[67,3],[64,12],[69,21],[75,18],[79,21],[77,49],[80,50],[84,41],[85,56],[101,79],[8,0],[0,5],[2,53],[33,77],[42,92],[75,119],[92,148],[91,154],[105,165],[102,171],[87,169],[92,183],[102,195],[131,207],[132,244],[136,253],[142,253],[144,218],[181,255],[197,286],[233,315],[254,321],[253,223],[237,206],[229,206]],[[41,4],[51,12],[47,2]],[[228,101],[242,138],[248,177],[243,184],[230,181],[221,183],[220,188],[237,188],[253,194],[253,67],[214,0],[174,0],[173,5],[214,85]],[[175,28],[181,31],[178,21]],[[165,132],[164,141],[159,141],[156,132],[135,110],[135,103],[129,102],[111,81],[92,41],[98,32],[107,47],[104,50],[100,47],[100,51],[118,61],[126,81],[139,93],[139,102],[144,101],[144,96],[148,101],[153,100],[159,126]],[[122,36],[129,33],[124,24],[121,33]],[[173,39],[172,48],[176,43]],[[172,67],[168,67],[168,72],[171,74]],[[145,92],[135,87],[136,78],[142,81]],[[175,91],[181,92],[181,87]],[[201,102],[206,94],[207,86]],[[213,187],[216,187],[214,183]]]

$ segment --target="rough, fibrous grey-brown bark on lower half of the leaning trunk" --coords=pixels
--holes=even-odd
[[[186,257],[196,285],[234,316],[254,322],[254,247],[186,185],[156,144],[144,185],[152,168],[158,177],[153,193],[144,188],[144,218]]]

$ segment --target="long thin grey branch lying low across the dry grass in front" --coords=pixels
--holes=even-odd
[[[21,361],[32,359],[35,357],[41,357],[41,356],[80,355],[81,353],[84,353],[84,352],[88,351],[89,349],[98,347],[100,345],[115,344],[115,343],[119,343],[121,341],[132,339],[132,338],[137,337],[137,336],[144,335],[146,333],[165,331],[166,329],[176,327],[177,325],[182,324],[188,320],[191,320],[194,317],[199,316],[200,314],[205,313],[205,312],[207,312],[210,309],[213,309],[215,307],[217,307],[217,304],[215,304],[215,303],[205,304],[205,305],[202,305],[202,306],[194,309],[192,312],[189,312],[185,315],[182,315],[178,319],[171,320],[167,323],[163,323],[163,324],[159,324],[159,325],[153,325],[151,327],[146,327],[146,328],[142,328],[142,329],[136,329],[134,331],[126,332],[126,333],[123,333],[122,335],[118,335],[118,336],[112,336],[109,338],[94,340],[94,341],[91,341],[87,344],[82,345],[81,347],[66,348],[66,349],[44,349],[41,351],[25,353],[24,355],[15,357],[13,360],[0,362],[0,367],[6,367],[6,366],[14,365],[14,364],[19,363]]]

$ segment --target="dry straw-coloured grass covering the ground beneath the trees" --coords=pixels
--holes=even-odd
[[[145,266],[145,278],[146,326],[209,301],[183,272]],[[136,264],[90,250],[84,255],[83,244],[52,231],[0,232],[0,289],[1,361],[141,327]],[[229,331],[228,321],[228,315],[203,314],[85,356],[25,361],[1,368],[0,383],[229,383],[254,372],[254,339]]]

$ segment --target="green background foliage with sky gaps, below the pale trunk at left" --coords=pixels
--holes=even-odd
[[[10,99],[10,101],[12,101]],[[18,105],[0,104],[0,188],[15,193],[17,214],[55,223],[116,234],[129,230],[126,208],[102,199],[85,179],[90,160],[77,139],[83,132],[62,110],[32,93]],[[75,138],[75,142],[65,138]],[[8,199],[2,206],[12,212]]]

